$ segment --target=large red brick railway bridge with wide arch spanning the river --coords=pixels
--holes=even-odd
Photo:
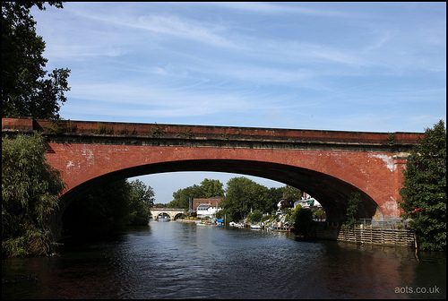
[[[41,132],[47,162],[62,172],[64,208],[90,188],[133,176],[216,171],[261,176],[313,195],[329,220],[398,219],[409,149],[423,133],[366,133],[236,126],[158,125],[2,118],[2,132]]]

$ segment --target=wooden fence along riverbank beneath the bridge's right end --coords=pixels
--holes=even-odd
[[[340,228],[314,224],[309,236],[366,245],[415,245],[414,232],[395,228]]]

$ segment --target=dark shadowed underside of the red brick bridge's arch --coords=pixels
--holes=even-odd
[[[350,194],[354,192],[360,193],[362,200],[361,208],[358,210],[358,219],[371,219],[378,209],[375,201],[365,192],[334,176],[328,176],[306,168],[297,168],[278,163],[238,159],[180,160],[117,170],[74,187],[66,192],[62,196],[62,199],[65,201],[66,208],[76,196],[87,192],[96,185],[102,185],[127,177],[177,171],[236,173],[264,177],[291,185],[311,194],[319,201],[327,213],[327,220],[332,221],[346,219],[347,201],[349,200]]]

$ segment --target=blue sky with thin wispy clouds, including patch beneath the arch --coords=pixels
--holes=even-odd
[[[384,133],[446,121],[444,2],[68,2],[31,12],[46,69],[71,70],[64,119]],[[234,176],[138,179],[169,202],[204,178]]]

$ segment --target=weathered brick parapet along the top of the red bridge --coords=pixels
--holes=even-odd
[[[90,137],[108,139],[151,139],[158,141],[191,142],[282,142],[335,145],[409,146],[423,133],[373,133],[348,131],[299,130],[211,125],[159,125],[114,122],[60,120],[50,121],[31,117],[4,117],[2,131],[38,131],[65,138]],[[138,143],[138,142],[137,142]],[[176,142],[174,143],[176,144]]]

